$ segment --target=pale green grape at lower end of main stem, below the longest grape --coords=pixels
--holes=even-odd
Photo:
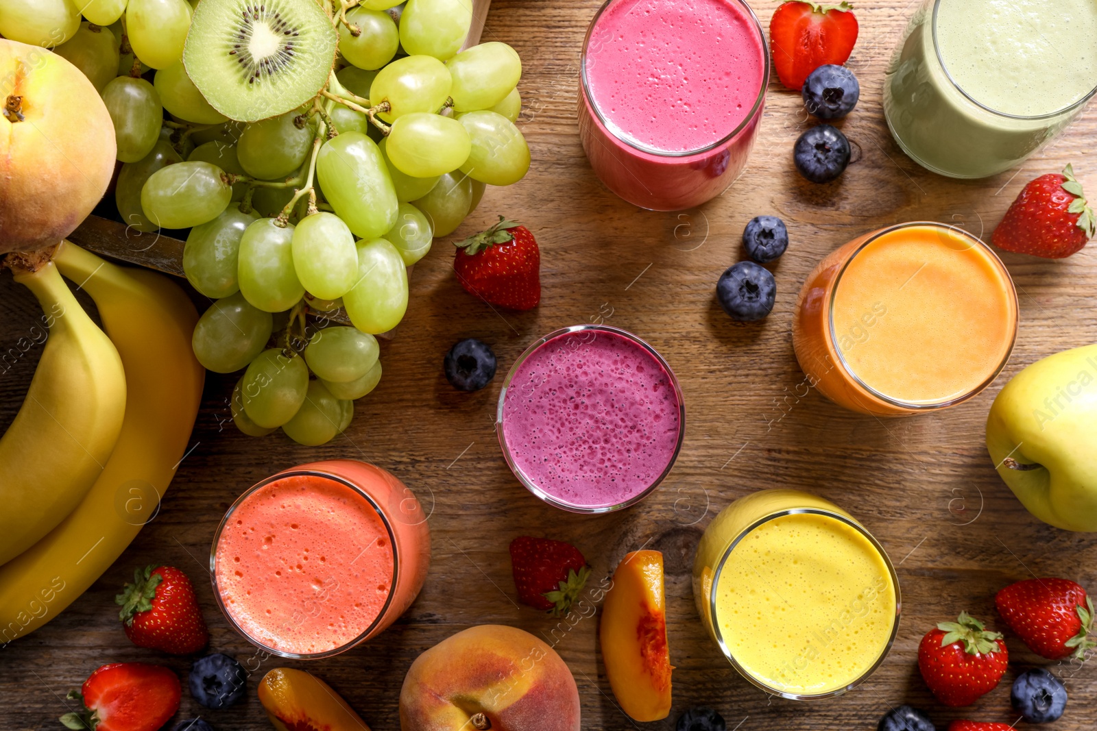
[[[309,293],[323,299],[342,297],[354,286],[358,267],[354,237],[338,216],[320,212],[297,224],[293,269]]]

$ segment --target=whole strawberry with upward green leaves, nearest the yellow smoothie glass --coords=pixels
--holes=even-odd
[[[946,706],[969,706],[998,685],[1009,655],[998,632],[961,612],[942,621],[918,644],[918,670],[926,685]]]

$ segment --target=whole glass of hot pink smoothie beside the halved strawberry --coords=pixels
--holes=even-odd
[[[742,0],[609,0],[581,71],[583,147],[625,201],[681,210],[742,172],[769,81],[765,35]]]

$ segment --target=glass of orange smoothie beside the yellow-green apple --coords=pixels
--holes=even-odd
[[[796,358],[832,401],[902,415],[991,385],[1014,346],[1017,294],[991,249],[942,224],[853,239],[808,275],[793,316]]]

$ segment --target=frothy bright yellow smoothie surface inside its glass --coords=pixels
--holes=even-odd
[[[837,518],[772,518],[732,549],[716,586],[716,621],[732,655],[773,688],[819,695],[864,674],[895,624],[887,564]]]

